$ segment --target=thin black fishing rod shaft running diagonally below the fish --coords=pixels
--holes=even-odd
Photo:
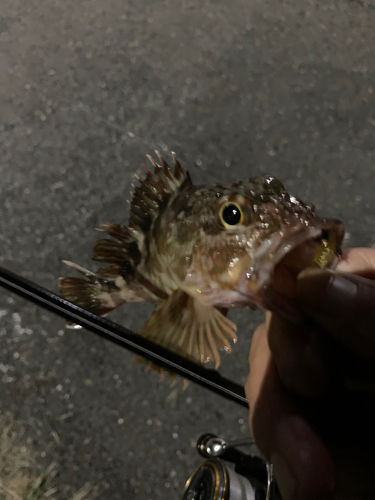
[[[3,267],[0,267],[0,286],[65,318],[69,322],[87,328],[100,337],[110,340],[134,354],[142,356],[162,368],[248,408],[243,386],[222,377],[216,370],[199,366],[144,339],[128,328],[124,328],[106,318],[95,316],[95,314],[68,302],[36,283]]]

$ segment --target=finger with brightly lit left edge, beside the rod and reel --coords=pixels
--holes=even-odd
[[[333,498],[333,464],[323,442],[284,390],[259,327],[250,350],[245,390],[255,441],[274,466],[283,500]]]

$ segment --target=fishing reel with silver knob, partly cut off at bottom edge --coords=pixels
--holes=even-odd
[[[203,434],[197,451],[207,460],[188,479],[181,500],[281,500],[272,465],[238,449],[251,444]]]

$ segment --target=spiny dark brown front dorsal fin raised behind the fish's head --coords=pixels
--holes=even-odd
[[[155,151],[160,163],[152,156],[147,155],[153,166],[154,172],[142,165],[146,178],[136,179],[140,186],[134,187],[133,198],[130,205],[129,227],[147,234],[152,222],[167,206],[169,200],[192,182],[187,171],[182,170],[176,155],[172,152],[175,168],[172,170],[167,162]]]

